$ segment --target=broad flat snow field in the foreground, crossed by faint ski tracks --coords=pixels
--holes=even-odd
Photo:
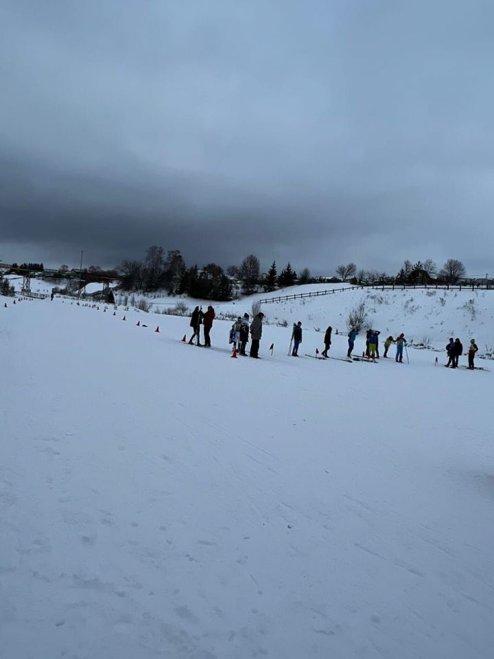
[[[286,319],[337,327],[321,300]],[[209,350],[106,309],[0,299],[1,656],[492,656],[491,371],[291,358],[276,325],[233,359],[228,321]]]

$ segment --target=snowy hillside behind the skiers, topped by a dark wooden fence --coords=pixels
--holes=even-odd
[[[327,289],[327,285],[293,286],[276,294],[256,294],[235,302],[213,303],[220,313],[250,313],[252,303],[275,295],[299,294]],[[174,305],[178,300],[169,297],[150,298],[154,310]],[[197,300],[184,299],[192,310]],[[414,343],[425,343],[443,349],[449,336],[459,336],[465,347],[475,338],[480,352],[494,352],[494,290],[436,290],[436,289],[372,289],[338,291],[333,294],[290,301],[263,304],[268,323],[302,321],[304,329],[324,332],[328,325],[333,332],[346,334],[349,311],[364,302],[368,322],[381,334],[397,336],[405,332]],[[202,301],[203,306],[211,302]],[[290,340],[290,332],[289,338]]]

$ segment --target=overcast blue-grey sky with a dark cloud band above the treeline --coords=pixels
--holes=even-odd
[[[494,275],[491,0],[1,0],[0,261]]]

